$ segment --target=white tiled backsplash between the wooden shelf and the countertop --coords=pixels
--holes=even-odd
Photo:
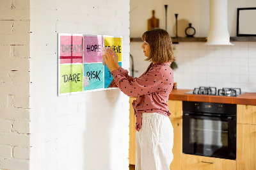
[[[145,71],[148,63],[141,49],[142,42],[131,42],[134,77]],[[234,45],[204,45],[204,42],[173,44],[178,65],[174,70],[177,88],[199,86],[241,88],[256,92],[256,42],[232,42]]]

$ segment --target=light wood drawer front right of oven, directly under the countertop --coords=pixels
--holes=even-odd
[[[256,125],[256,105],[237,104],[237,123]]]

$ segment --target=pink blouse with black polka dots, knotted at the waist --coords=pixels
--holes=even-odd
[[[120,67],[111,72],[114,80],[109,87],[118,87],[129,97],[137,97],[132,102],[136,115],[136,130],[141,129],[143,112],[158,112],[170,116],[168,98],[173,88],[173,70],[171,63],[151,63],[140,77],[133,78],[128,71]]]

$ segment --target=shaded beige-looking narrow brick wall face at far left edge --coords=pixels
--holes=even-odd
[[[0,169],[29,169],[29,3],[0,2]]]

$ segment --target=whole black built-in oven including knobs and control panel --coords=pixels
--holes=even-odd
[[[236,159],[236,105],[183,102],[183,153]]]

